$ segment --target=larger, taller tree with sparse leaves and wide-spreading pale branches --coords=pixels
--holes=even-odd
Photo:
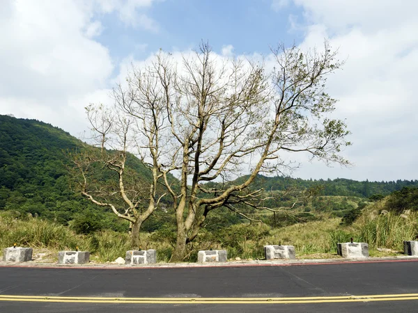
[[[134,125],[125,150],[137,152],[153,172],[153,188],[161,179],[171,197],[177,223],[171,261],[184,259],[213,209],[263,208],[263,193],[251,183],[259,173],[291,170],[289,153],[348,164],[339,155],[350,144],[348,131],[328,117],[335,100],[325,92],[327,74],[341,66],[336,54],[327,43],[307,54],[280,45],[272,59],[270,73],[265,63],[226,59],[206,44],[180,61],[160,51],[115,90],[116,115]]]

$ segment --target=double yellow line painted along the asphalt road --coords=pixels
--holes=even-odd
[[[0,301],[56,302],[56,303],[155,303],[155,304],[286,304],[286,303],[342,303],[369,301],[418,300],[418,294],[383,294],[371,296],[328,296],[294,298],[100,298],[60,296],[0,295]]]

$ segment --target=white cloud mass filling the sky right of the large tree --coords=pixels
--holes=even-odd
[[[336,116],[347,118],[353,147],[344,152],[352,171],[314,163],[304,177],[417,179],[414,94],[418,71],[416,1],[294,0],[303,9],[306,32],[301,47],[320,47],[324,38],[346,60],[328,80],[339,99]]]

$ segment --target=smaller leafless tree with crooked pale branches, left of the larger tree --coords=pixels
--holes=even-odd
[[[123,106],[129,96],[118,86],[114,90],[115,108]],[[109,207],[119,218],[129,221],[132,249],[140,248],[141,224],[158,207],[164,193],[157,194],[157,181],[162,177],[157,168],[143,160],[127,166],[136,158],[129,149],[135,146],[138,125],[127,115],[116,114],[101,104],[86,107],[93,130],[93,146],[72,153],[72,170],[77,188],[88,200]],[[150,138],[152,145],[152,138]],[[92,143],[90,141],[90,143]],[[138,175],[138,166],[144,171]],[[149,171],[149,172],[147,172]]]

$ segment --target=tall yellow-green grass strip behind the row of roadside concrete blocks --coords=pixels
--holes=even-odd
[[[233,225],[217,232],[204,232],[193,243],[189,258],[195,262],[197,250],[225,248],[229,258],[263,259],[266,244],[290,244],[295,246],[298,258],[330,258],[336,256],[336,243],[354,241],[369,243],[371,256],[396,255],[403,251],[403,241],[415,239],[418,234],[418,213],[378,214],[384,202],[366,207],[353,225],[340,225],[340,218],[298,223],[287,227],[273,228],[268,225]],[[3,212],[0,215],[0,248],[30,246],[34,255],[46,252],[46,258],[56,262],[59,250],[91,251],[93,262],[112,262],[124,257],[130,250],[127,234],[104,230],[90,235],[75,234],[69,227],[48,220],[31,218],[18,220]],[[157,250],[160,262],[168,262],[172,246],[169,240],[158,234],[141,234],[144,249]],[[381,252],[377,248],[389,248]],[[44,257],[45,259],[45,257]]]

